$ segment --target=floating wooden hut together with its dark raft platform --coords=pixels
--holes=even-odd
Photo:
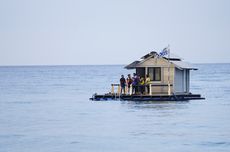
[[[144,94],[127,92],[120,94],[119,84],[112,84],[112,91],[104,95],[94,94],[91,100],[130,100],[130,101],[185,101],[204,99],[200,94],[190,92],[190,71],[197,70],[191,64],[184,62],[180,57],[170,54],[168,57],[159,57],[157,52],[150,52],[125,66],[126,69],[135,69],[139,77],[150,77],[150,83],[145,84]],[[117,93],[114,86],[118,86]],[[132,86],[131,86],[132,87]],[[149,89],[146,89],[146,88]],[[147,92],[147,90],[149,92]]]

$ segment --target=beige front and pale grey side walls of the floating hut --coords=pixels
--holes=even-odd
[[[189,93],[190,92],[190,70],[179,69],[173,63],[168,64],[164,58],[149,58],[139,63],[137,68],[143,68],[141,71],[148,73],[149,67],[161,67],[161,81],[152,81],[152,94],[167,94],[168,93],[168,77],[171,86],[171,93]],[[145,69],[145,70],[144,70]],[[169,69],[169,71],[168,71]]]

